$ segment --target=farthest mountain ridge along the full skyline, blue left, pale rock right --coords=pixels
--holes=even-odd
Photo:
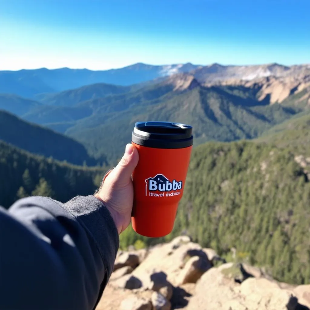
[[[31,69],[0,71],[0,93],[15,94],[34,98],[41,93],[66,91],[90,84],[107,83],[120,86],[144,83],[177,73],[190,73],[200,83],[225,81],[227,79],[252,80],[268,76],[288,76],[310,71],[309,64],[283,66],[262,65],[221,65],[207,66],[186,64],[150,65],[137,63],[124,68],[92,71],[88,69]],[[37,97],[38,98],[38,97]]]

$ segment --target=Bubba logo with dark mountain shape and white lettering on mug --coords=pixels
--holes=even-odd
[[[177,191],[179,189],[182,189],[182,181],[176,181],[172,180],[172,182],[169,181],[164,175],[158,174],[155,175],[153,178],[148,178],[145,180],[146,186],[145,186],[145,196],[148,196],[148,192],[162,192],[162,194],[154,195],[154,194],[149,194],[149,196],[159,196],[163,197],[164,194],[163,192],[170,192],[170,191]],[[178,192],[179,194],[181,192]],[[166,196],[170,196],[169,194]],[[175,196],[172,195],[171,196]]]

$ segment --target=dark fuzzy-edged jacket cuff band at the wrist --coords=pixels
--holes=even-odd
[[[109,279],[114,266],[119,236],[109,210],[94,196],[76,196],[65,203],[67,209],[93,237]]]

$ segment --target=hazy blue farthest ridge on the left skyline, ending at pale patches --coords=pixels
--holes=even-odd
[[[53,93],[96,83],[129,86],[174,73],[189,72],[199,66],[190,63],[171,65],[133,64],[120,69],[23,69],[0,71],[0,93],[33,98],[40,93]]]

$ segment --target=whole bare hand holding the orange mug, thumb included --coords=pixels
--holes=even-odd
[[[139,161],[137,149],[127,144],[125,154],[118,165],[103,179],[95,197],[110,211],[117,231],[123,232],[131,221],[134,191],[131,175]]]

